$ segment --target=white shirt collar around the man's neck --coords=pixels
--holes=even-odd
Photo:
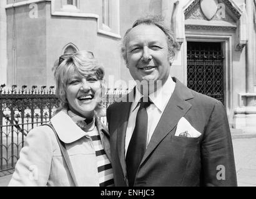
[[[164,85],[157,89],[154,93],[150,93],[149,99],[155,106],[161,111],[164,111],[166,104],[168,103],[172,93],[174,92],[175,82],[172,80],[172,77],[169,76]],[[137,86],[135,86],[135,97],[134,103],[132,103],[131,110],[134,111],[137,108],[140,98],[142,95]]]

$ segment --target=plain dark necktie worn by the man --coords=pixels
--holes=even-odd
[[[134,185],[135,175],[147,147],[147,110],[151,104],[149,97],[140,99],[140,108],[137,113],[134,132],[126,154],[127,177],[129,186]]]

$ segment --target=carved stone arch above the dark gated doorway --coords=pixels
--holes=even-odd
[[[200,4],[202,1],[207,0],[190,0],[183,7],[185,31],[234,32],[237,37],[235,50],[242,51],[248,40],[245,4],[237,6],[234,0],[210,0],[218,2],[218,6],[215,15],[207,19]]]

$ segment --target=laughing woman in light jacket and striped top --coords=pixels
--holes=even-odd
[[[104,69],[91,52],[62,55],[54,66],[61,108],[51,118],[66,147],[71,170],[54,129],[39,126],[27,135],[9,186],[112,186],[109,134],[101,113]]]

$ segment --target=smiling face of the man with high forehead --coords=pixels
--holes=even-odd
[[[167,37],[155,25],[140,24],[130,30],[126,41],[127,68],[134,80],[164,85],[170,72]]]

